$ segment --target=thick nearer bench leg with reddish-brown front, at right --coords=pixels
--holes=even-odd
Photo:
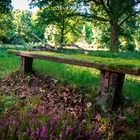
[[[101,71],[101,83],[97,104],[104,112],[118,107],[122,103],[122,88],[125,74],[111,71]]]

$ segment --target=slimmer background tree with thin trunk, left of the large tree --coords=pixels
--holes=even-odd
[[[41,25],[53,24],[59,32],[58,43],[63,46],[67,42],[67,34],[78,33],[76,27],[80,17],[67,16],[76,13],[77,5],[74,0],[33,0],[32,5],[40,8],[38,12]]]

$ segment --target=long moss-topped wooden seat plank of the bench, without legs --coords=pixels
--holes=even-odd
[[[121,63],[119,64],[117,62],[116,58],[112,58],[112,60],[114,59],[114,63],[108,64],[107,62],[101,62],[101,61],[94,60],[93,56],[87,57],[87,59],[82,59],[82,58],[73,58],[73,55],[64,55],[64,54],[51,53],[51,52],[47,52],[47,53],[39,52],[38,53],[37,51],[12,50],[9,53],[12,53],[12,54],[15,54],[18,56],[23,56],[23,57],[50,60],[50,61],[55,61],[55,62],[60,62],[60,63],[96,68],[99,70],[108,70],[108,71],[112,71],[112,72],[131,74],[131,75],[140,75],[140,66],[135,64],[137,61],[133,62],[134,64],[131,64],[129,67],[126,64],[124,64],[124,65]],[[76,55],[74,57],[76,57]],[[86,56],[85,56],[85,58],[86,58]],[[88,60],[88,58],[90,58],[90,59]],[[92,58],[93,58],[93,61],[91,61]],[[121,59],[119,59],[119,60],[121,61]],[[125,60],[125,61],[127,61],[127,60]],[[115,64],[115,63],[117,63],[117,64]],[[140,61],[139,61],[139,63],[140,63]]]

